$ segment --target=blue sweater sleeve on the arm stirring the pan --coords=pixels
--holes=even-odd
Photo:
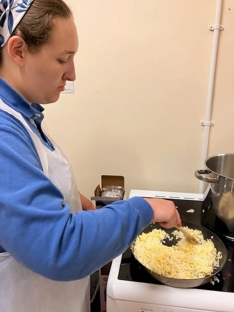
[[[151,221],[140,197],[70,213],[23,126],[0,122],[0,245],[45,277],[82,278],[121,254]]]

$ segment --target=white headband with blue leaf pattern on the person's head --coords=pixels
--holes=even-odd
[[[33,0],[0,0],[0,50],[11,37],[32,2]]]

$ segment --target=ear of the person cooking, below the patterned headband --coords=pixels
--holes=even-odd
[[[23,65],[25,54],[28,52],[25,41],[20,36],[13,36],[7,42],[9,57],[18,65]]]

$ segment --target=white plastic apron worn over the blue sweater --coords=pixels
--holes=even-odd
[[[53,142],[50,151],[20,115],[0,99],[0,109],[8,112],[28,130],[37,148],[44,174],[64,196],[71,211],[82,210],[72,168]],[[30,120],[34,123],[33,119]],[[89,277],[71,282],[45,278],[18,263],[10,254],[0,253],[0,312],[89,312]]]

